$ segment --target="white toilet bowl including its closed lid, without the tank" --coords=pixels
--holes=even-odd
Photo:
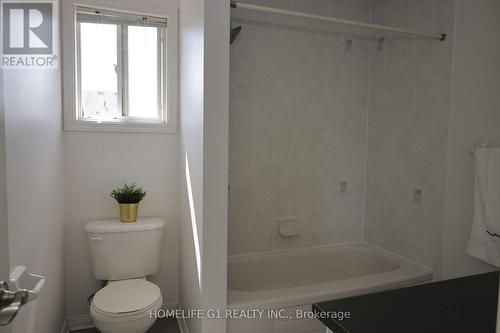
[[[101,333],[145,333],[162,305],[160,288],[145,279],[108,283],[94,296],[90,315]]]

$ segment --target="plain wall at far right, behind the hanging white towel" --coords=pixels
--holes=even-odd
[[[500,145],[500,2],[456,1],[453,89],[444,225],[444,277],[492,270],[465,254],[474,195],[473,156],[484,139]]]

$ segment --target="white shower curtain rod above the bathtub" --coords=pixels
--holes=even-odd
[[[286,10],[286,9],[278,9],[278,8],[251,5],[251,4],[247,4],[247,3],[241,3],[241,2],[238,2],[236,0],[231,0],[231,8],[241,8],[241,9],[255,10],[255,11],[259,11],[259,12],[272,13],[272,14],[278,14],[278,15],[286,15],[286,16],[294,16],[294,17],[300,17],[300,18],[306,18],[306,19],[328,21],[328,22],[333,22],[333,23],[351,25],[351,26],[360,27],[360,28],[367,28],[367,29],[381,30],[381,31],[387,31],[387,32],[395,32],[395,33],[411,35],[411,36],[425,37],[425,38],[436,39],[436,40],[440,40],[440,41],[444,41],[446,39],[445,33],[437,34],[437,33],[430,33],[430,32],[420,32],[420,31],[390,27],[390,26],[380,25],[380,24],[351,21],[351,20],[340,19],[340,18],[336,18],[336,17],[328,17],[328,16],[294,12],[294,11]]]

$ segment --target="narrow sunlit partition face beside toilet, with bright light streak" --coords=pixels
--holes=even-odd
[[[180,2],[180,302],[188,309],[202,306],[203,7],[203,0]],[[191,333],[201,332],[201,320],[189,319],[187,325]]]

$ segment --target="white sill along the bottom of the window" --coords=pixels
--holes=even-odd
[[[124,132],[124,133],[177,133],[175,124],[154,120],[73,120],[64,124],[64,131]]]

